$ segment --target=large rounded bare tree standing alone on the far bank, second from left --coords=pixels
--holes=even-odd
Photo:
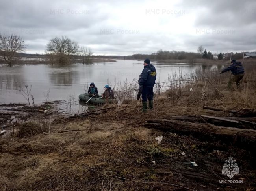
[[[51,56],[54,55],[58,64],[69,63],[70,58],[76,55],[78,51],[78,43],[72,41],[67,36],[52,38],[46,48],[46,53]]]

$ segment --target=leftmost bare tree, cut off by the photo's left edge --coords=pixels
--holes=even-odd
[[[24,52],[27,45],[24,40],[18,35],[1,35],[0,34],[0,56],[2,56],[5,62],[12,67],[19,57],[17,53]]]

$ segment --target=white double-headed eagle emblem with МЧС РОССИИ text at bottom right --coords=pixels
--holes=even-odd
[[[233,178],[235,175],[239,175],[239,168],[236,163],[236,160],[233,160],[233,157],[229,157],[228,160],[225,160],[225,164],[222,168],[222,174],[227,175],[228,178]],[[242,184],[243,180],[219,180],[220,184],[236,183]]]

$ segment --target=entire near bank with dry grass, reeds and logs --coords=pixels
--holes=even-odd
[[[231,90],[230,75],[218,69],[187,80],[174,74],[156,84],[147,113],[127,85],[116,95],[120,104],[71,118],[50,103],[1,111],[9,133],[0,138],[0,191],[255,190],[255,64],[244,60],[241,86]],[[157,90],[163,86],[167,91]],[[239,184],[222,174],[230,156],[240,170],[231,180]]]

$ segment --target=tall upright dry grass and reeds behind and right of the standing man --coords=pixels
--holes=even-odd
[[[242,62],[242,60],[239,60]],[[209,61],[210,62],[210,61]],[[212,64],[210,63],[205,64]],[[255,107],[254,96],[256,91],[256,61],[244,60],[245,76],[241,80],[241,87],[236,89],[234,84],[230,90],[227,89],[227,83],[232,77],[231,72],[219,74],[223,67],[228,67],[228,61],[216,63],[213,67],[203,67],[189,74],[171,73],[165,82],[156,81],[154,94],[160,95],[168,91],[169,98],[175,100],[182,95],[182,91],[200,92],[197,95],[199,100],[211,100],[215,96],[229,96],[234,104],[243,104],[246,107]],[[192,89],[191,89],[192,88]],[[121,102],[129,103],[129,100],[136,100],[139,85],[137,79],[133,82],[115,82],[115,97]]]

